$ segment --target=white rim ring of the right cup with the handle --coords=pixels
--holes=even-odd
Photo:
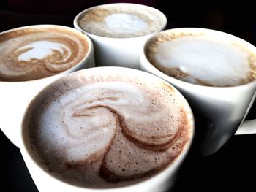
[[[194,88],[208,88],[208,89],[219,89],[219,90],[223,90],[223,89],[234,89],[234,88],[243,88],[245,86],[252,86],[252,85],[256,85],[256,80],[253,80],[251,82],[246,82],[245,84],[241,84],[241,85],[232,85],[232,86],[208,86],[208,85],[198,85],[198,84],[194,84],[191,82],[186,82],[183,80],[178,80],[175,77],[170,77],[169,75],[165,74],[164,72],[160,71],[159,69],[157,69],[153,64],[151,64],[150,61],[148,61],[148,58],[146,57],[146,46],[148,45],[148,43],[151,41],[151,39],[154,39],[154,37],[157,37],[157,35],[159,34],[166,34],[169,33],[170,31],[183,31],[183,30],[192,30],[192,31],[206,31],[210,34],[220,34],[222,36],[226,36],[226,37],[230,37],[233,39],[236,39],[239,42],[242,42],[243,44],[249,45],[250,49],[255,50],[255,54],[256,54],[256,47],[254,45],[252,45],[250,42],[246,42],[246,40],[241,39],[240,37],[236,37],[233,34],[228,34],[224,31],[218,31],[218,30],[214,30],[211,28],[195,28],[195,27],[184,27],[184,28],[170,28],[170,29],[166,29],[164,31],[159,31],[159,33],[154,34],[154,36],[150,37],[149,39],[146,40],[145,44],[143,45],[143,53],[140,55],[140,68],[142,65],[146,65],[149,66],[151,68],[151,70],[154,70],[154,74],[156,74],[159,77],[162,77],[164,80],[170,80],[170,83],[175,82],[175,84],[177,85],[184,85],[184,86],[190,86],[190,87],[194,87]],[[146,62],[143,62],[142,64],[142,60],[146,60]]]

